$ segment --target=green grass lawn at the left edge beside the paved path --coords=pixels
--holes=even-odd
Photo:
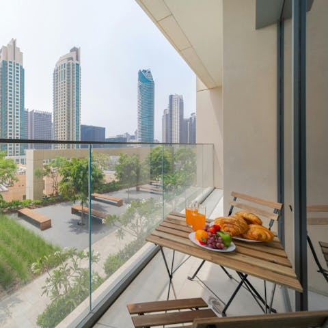
[[[0,214],[0,285],[7,289],[32,279],[31,264],[59,247]]]

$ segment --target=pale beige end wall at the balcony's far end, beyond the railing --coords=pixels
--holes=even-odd
[[[197,79],[196,93],[196,142],[213,143],[213,165],[214,165],[214,186],[223,188],[223,110],[222,110],[222,88],[215,87],[208,89],[200,79]],[[197,158],[199,158],[197,156]],[[208,161],[211,156],[204,156]],[[204,163],[204,172],[209,173],[210,163]],[[199,165],[197,165],[199,167]],[[200,174],[197,174],[199,177]],[[206,175],[204,185],[212,185],[211,176]],[[212,182],[213,183],[213,182]]]

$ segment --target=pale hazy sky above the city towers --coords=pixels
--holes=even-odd
[[[134,0],[1,1],[0,46],[16,38],[23,51],[25,107],[53,110],[53,68],[81,48],[81,124],[106,137],[137,128],[137,72],[155,83],[154,137],[169,94],[182,94],[184,117],[195,111],[195,74]]]

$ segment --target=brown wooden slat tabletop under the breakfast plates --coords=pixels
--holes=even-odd
[[[273,241],[267,243],[247,243],[234,240],[236,249],[226,253],[210,251],[195,245],[189,240],[190,232],[193,230],[186,225],[184,215],[170,213],[146,240],[303,292],[279,238],[275,237]]]

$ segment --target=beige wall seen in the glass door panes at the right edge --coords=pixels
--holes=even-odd
[[[307,197],[308,205],[328,204],[328,1],[316,0],[307,14]],[[285,176],[286,176],[286,246],[294,256],[294,225],[292,212],[292,21],[285,23]],[[327,215],[323,216],[327,217]],[[320,217],[320,215],[309,215]],[[325,265],[318,241],[327,241],[328,226],[308,226],[308,234],[316,248],[320,262]],[[316,272],[316,264],[308,250],[308,284],[311,290],[328,295],[328,285]]]

